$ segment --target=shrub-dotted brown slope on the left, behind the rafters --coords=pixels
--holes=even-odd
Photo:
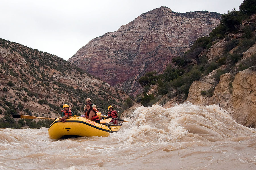
[[[0,39],[0,127],[37,127],[31,120],[15,124],[11,114],[59,117],[63,104],[82,114],[87,97],[106,112],[131,105],[123,92],[52,54]],[[33,123],[33,122],[32,122]],[[48,122],[49,125],[49,122]]]

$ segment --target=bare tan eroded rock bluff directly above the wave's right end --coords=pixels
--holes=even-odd
[[[248,127],[256,128],[256,69],[250,67],[239,73],[226,73],[212,91],[213,95],[202,95],[212,85],[203,80],[195,81],[189,89],[187,101],[195,105],[219,104],[232,118]]]

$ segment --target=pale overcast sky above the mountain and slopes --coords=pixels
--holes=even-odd
[[[69,59],[93,38],[165,6],[174,12],[239,10],[243,0],[0,0],[0,38]]]

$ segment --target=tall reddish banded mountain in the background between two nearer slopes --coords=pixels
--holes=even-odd
[[[120,90],[141,92],[139,78],[148,71],[162,73],[172,58],[184,54],[199,37],[220,23],[215,12],[173,12],[156,8],[117,31],[91,40],[68,61]]]

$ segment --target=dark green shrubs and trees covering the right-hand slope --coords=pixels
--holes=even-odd
[[[154,82],[157,82],[158,84],[158,96],[163,94],[168,94],[168,97],[173,97],[174,95],[179,94],[187,95],[189,87],[193,81],[199,80],[201,76],[208,75],[222,65],[228,65],[226,68],[229,69],[218,69],[216,71],[213,75],[215,85],[218,84],[222,74],[234,70],[235,65],[241,60],[243,52],[247,51],[256,42],[255,24],[246,25],[242,29],[243,37],[239,39],[232,39],[228,36],[230,33],[237,33],[239,29],[241,29],[240,25],[242,24],[242,21],[248,18],[251,14],[256,13],[256,1],[243,1],[239,8],[239,11],[233,9],[222,15],[220,25],[213,29],[209,37],[201,37],[197,39],[183,56],[172,59],[174,64],[170,64],[166,67],[163,74],[155,76]],[[225,54],[209,63],[207,57],[203,54],[206,53],[215,42],[224,38],[228,41],[225,45]],[[232,51],[232,53],[230,53],[230,51]],[[255,58],[255,55],[251,55],[250,58],[243,60],[238,67],[238,71],[242,71],[255,65]],[[155,100],[152,95],[145,95],[145,92],[148,92],[150,89],[149,86],[153,84],[151,83],[152,76],[149,75],[151,74],[146,73],[139,80],[141,86],[144,86],[145,90],[144,97],[141,98],[141,101],[140,98],[138,98],[137,101],[140,101],[144,106],[149,105]],[[207,91],[203,90],[201,91],[201,95],[210,97],[212,96],[213,90],[214,88]],[[176,94],[171,91],[175,91]]]

